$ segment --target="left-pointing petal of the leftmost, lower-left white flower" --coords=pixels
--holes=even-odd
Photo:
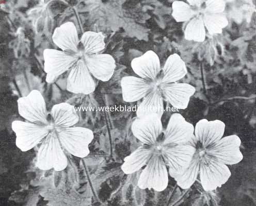
[[[49,131],[43,125],[36,125],[21,121],[12,122],[12,130],[16,133],[16,146],[21,151],[35,147]]]

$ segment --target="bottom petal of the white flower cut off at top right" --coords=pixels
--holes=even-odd
[[[202,16],[189,21],[185,29],[185,39],[203,42],[205,40],[205,28]]]

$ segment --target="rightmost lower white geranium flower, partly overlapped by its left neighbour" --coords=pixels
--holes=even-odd
[[[189,188],[197,179],[205,191],[212,191],[226,183],[231,175],[226,164],[240,162],[243,155],[239,150],[241,140],[236,135],[222,138],[225,124],[215,120],[200,120],[195,129],[195,138],[191,141],[196,149],[195,155],[187,169],[175,180],[182,188]]]

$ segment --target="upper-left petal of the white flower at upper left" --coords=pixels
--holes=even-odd
[[[64,50],[77,51],[78,35],[72,22],[67,22],[57,27],[53,33],[53,42]]]

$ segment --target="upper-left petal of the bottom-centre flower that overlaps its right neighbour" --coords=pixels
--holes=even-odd
[[[132,124],[134,136],[142,143],[152,145],[157,136],[162,132],[161,119],[156,113],[148,114],[142,118],[136,118]]]

